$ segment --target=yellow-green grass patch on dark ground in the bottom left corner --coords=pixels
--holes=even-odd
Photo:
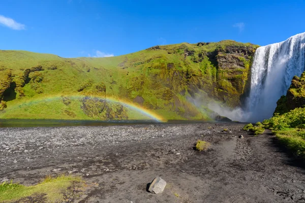
[[[81,186],[81,178],[65,175],[56,178],[46,177],[41,183],[33,186],[24,186],[12,181],[4,182],[0,185],[0,201],[9,202],[32,196],[34,199],[37,197],[37,201],[44,199],[46,202],[63,202],[64,193],[68,194],[68,188],[76,184]]]

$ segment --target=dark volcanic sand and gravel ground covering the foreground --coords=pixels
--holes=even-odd
[[[88,186],[74,191],[79,198],[72,202],[305,202],[301,164],[268,130],[253,137],[242,126],[0,128],[0,181],[35,184],[46,175],[83,176]],[[198,139],[211,148],[195,151]],[[167,182],[164,192],[146,192],[156,176]]]

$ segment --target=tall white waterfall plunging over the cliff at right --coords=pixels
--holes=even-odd
[[[305,32],[284,42],[259,47],[251,67],[251,90],[247,100],[250,122],[272,117],[277,101],[286,92],[293,76],[305,71]]]

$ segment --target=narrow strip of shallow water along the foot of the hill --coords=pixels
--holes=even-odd
[[[205,121],[169,120],[167,124],[204,123]],[[0,119],[0,127],[56,127],[56,126],[108,126],[131,124],[158,124],[156,120],[39,120],[39,119]]]

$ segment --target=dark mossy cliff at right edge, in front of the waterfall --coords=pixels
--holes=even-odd
[[[277,102],[275,113],[284,114],[295,108],[305,106],[305,72],[300,77],[294,76],[286,96]]]

